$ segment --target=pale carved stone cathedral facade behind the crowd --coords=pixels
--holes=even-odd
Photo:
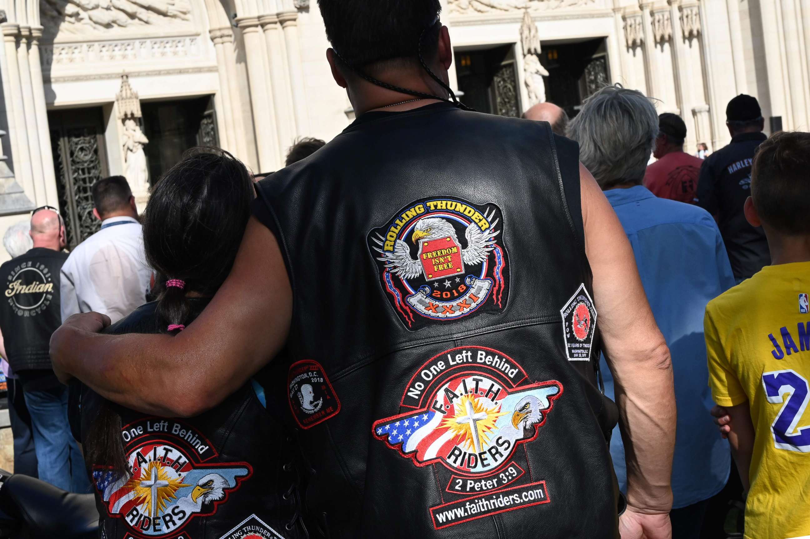
[[[573,115],[603,83],[622,83],[684,118],[687,151],[729,141],[725,108],[740,93],[760,100],[766,129],[810,123],[810,0],[442,4],[451,85],[481,112],[519,116],[549,100]],[[143,203],[190,146],[271,172],[296,137],[329,140],[354,118],[331,79],[316,0],[0,0],[0,10],[0,234],[48,204],[75,245],[98,227],[100,177],[126,175]]]

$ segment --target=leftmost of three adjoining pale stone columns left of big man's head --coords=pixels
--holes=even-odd
[[[256,129],[256,146],[258,146],[259,172],[275,170],[279,163],[278,146],[275,130],[275,114],[270,104],[268,88],[265,83],[265,55],[262,29],[258,18],[245,17],[237,19],[245,40],[245,57],[248,64],[248,79],[250,83],[250,103],[253,107],[254,125]]]

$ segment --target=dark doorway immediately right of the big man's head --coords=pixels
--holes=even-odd
[[[463,104],[478,112],[520,116],[514,45],[457,50],[454,60]]]

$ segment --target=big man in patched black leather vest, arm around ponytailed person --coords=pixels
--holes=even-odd
[[[669,353],[578,147],[448,102],[438,0],[319,5],[357,120],[259,183],[193,324],[113,340],[73,317],[52,342],[61,376],[192,415],[280,352],[268,398],[329,537],[669,537]],[[599,348],[631,448],[620,520]],[[136,365],[163,373],[148,391],[125,381]]]

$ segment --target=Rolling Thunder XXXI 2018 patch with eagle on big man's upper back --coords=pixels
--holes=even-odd
[[[509,295],[503,215],[458,198],[412,202],[369,233],[382,288],[407,329],[500,312]]]

